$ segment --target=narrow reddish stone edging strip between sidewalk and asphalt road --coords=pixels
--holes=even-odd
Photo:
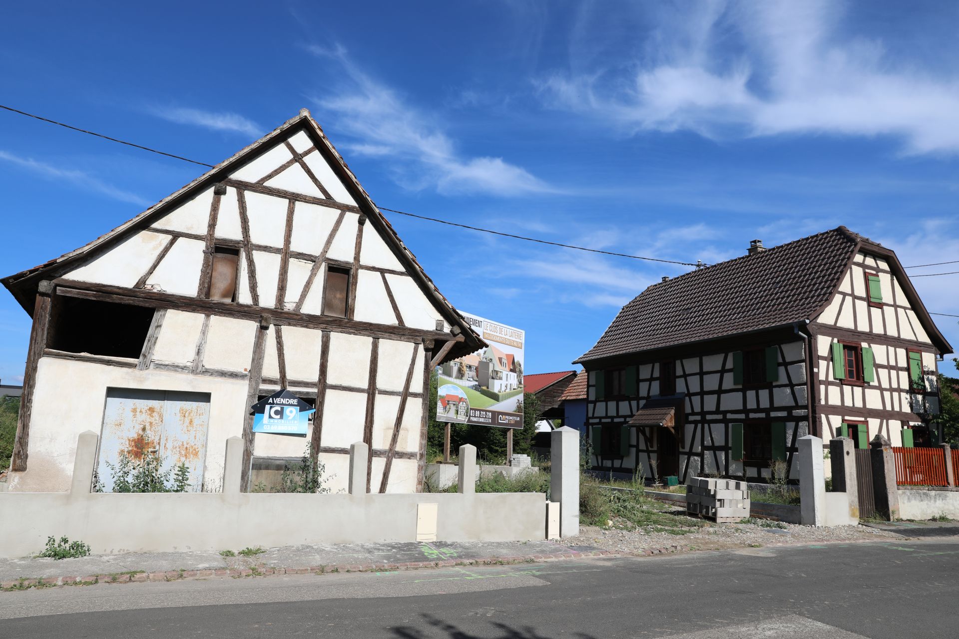
[[[675,553],[688,550],[685,546],[668,546],[645,550],[641,553],[615,553],[608,550],[588,552],[552,553],[546,555],[526,555],[515,557],[488,557],[481,559],[444,559],[439,561],[404,561],[400,563],[341,563],[319,566],[300,566],[291,568],[277,568],[266,565],[255,565],[248,568],[216,568],[206,570],[168,570],[166,572],[131,571],[129,573],[114,573],[107,575],[84,575],[68,577],[45,577],[43,579],[19,579],[9,582],[0,582],[0,591],[27,590],[30,588],[52,588],[67,585],[93,585],[95,583],[130,583],[130,582],[176,582],[179,580],[211,579],[230,577],[234,579],[244,577],[271,577],[276,575],[324,575],[335,573],[356,572],[395,572],[399,570],[416,570],[421,568],[452,568],[456,566],[489,566],[510,563],[532,563],[535,561],[556,561],[562,559],[587,558],[615,558],[626,555],[651,556]]]

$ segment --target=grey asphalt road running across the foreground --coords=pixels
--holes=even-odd
[[[959,543],[0,593],[0,637],[956,636]]]

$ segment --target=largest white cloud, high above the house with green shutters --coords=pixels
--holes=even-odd
[[[594,61],[542,88],[629,132],[892,135],[906,153],[959,152],[959,79],[840,33],[841,17],[830,0],[713,2],[693,15],[681,4],[651,16],[655,52],[628,71]]]

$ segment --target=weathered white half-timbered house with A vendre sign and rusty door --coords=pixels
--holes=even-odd
[[[3,283],[34,320],[10,491],[67,490],[86,430],[107,490],[145,447],[220,490],[239,436],[247,490],[304,453],[343,490],[364,442],[369,491],[417,491],[430,371],[486,346],[306,110]],[[281,388],[315,408],[305,439],[253,431],[251,405]]]

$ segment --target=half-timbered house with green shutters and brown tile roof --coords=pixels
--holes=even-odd
[[[807,434],[931,444],[948,353],[893,251],[842,226],[753,240],[743,257],[647,287],[576,360],[592,464],[767,481],[796,478]]]

